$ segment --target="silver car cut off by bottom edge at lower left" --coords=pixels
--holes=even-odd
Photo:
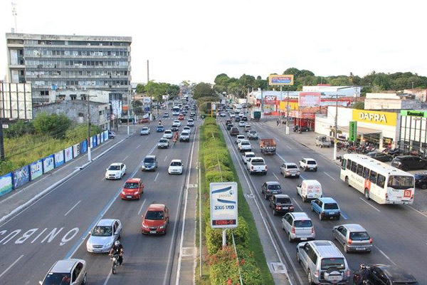
[[[83,259],[58,260],[53,264],[43,281],[38,281],[38,284],[86,284],[86,271],[86,261]]]

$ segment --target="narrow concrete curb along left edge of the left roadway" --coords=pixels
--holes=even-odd
[[[77,172],[79,172],[80,170],[85,169],[85,167],[88,167],[88,165],[90,165],[91,162],[97,160],[99,157],[102,157],[102,155],[105,155],[107,152],[109,152],[110,150],[112,150],[114,147],[116,147],[117,145],[120,145],[120,143],[124,142],[125,140],[127,140],[128,138],[130,138],[132,136],[129,135],[127,136],[127,138],[124,138],[122,140],[120,140],[119,142],[117,142],[115,145],[112,145],[111,147],[109,147],[107,150],[103,151],[100,153],[100,155],[97,155],[97,157],[93,158],[92,161],[90,162],[86,162],[84,165],[78,167],[77,169],[75,169],[73,172],[71,172],[69,175],[63,177],[63,179],[53,183],[53,185],[47,187],[45,190],[43,190],[42,192],[38,193],[38,195],[34,196],[33,198],[29,199],[27,202],[21,204],[21,206],[16,207],[12,212],[10,212],[9,214],[4,215],[3,217],[0,218],[0,225],[4,224],[4,222],[7,222],[9,219],[11,219],[12,217],[14,217],[16,214],[19,214],[20,212],[22,212],[24,209],[30,207],[32,204],[34,204],[35,202],[37,202],[39,199],[41,199],[43,196],[47,195],[49,192],[53,191],[56,187],[58,187],[59,185],[61,185],[63,182],[67,181],[68,179],[70,179],[71,177],[73,177]]]

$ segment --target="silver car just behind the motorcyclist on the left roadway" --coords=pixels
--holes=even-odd
[[[86,249],[88,252],[110,252],[122,234],[122,223],[118,219],[100,219],[90,232]]]

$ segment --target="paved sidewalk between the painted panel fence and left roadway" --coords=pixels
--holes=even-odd
[[[136,128],[134,129],[136,130]],[[130,130],[132,132],[132,128]],[[107,140],[102,143],[102,145],[99,145],[92,150],[92,160],[95,160],[99,155],[102,155],[102,153],[110,147],[129,138],[127,135],[127,125],[121,125],[119,131],[115,132],[115,134],[115,139]],[[2,196],[0,198],[0,224],[6,222],[15,214],[23,211],[23,209],[26,209],[26,207],[33,202],[36,202],[36,200],[41,199],[41,197],[48,194],[48,192],[51,192],[56,188],[56,186],[73,176],[76,172],[82,170],[88,164],[88,154],[81,155],[70,162],[67,162],[62,167],[51,170],[48,174],[42,175],[38,179],[28,182],[24,187]]]

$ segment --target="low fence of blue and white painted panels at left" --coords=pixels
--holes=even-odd
[[[90,138],[90,145],[97,147],[108,140],[108,130],[103,131]],[[43,157],[40,160],[31,162],[29,165],[0,176],[0,197],[7,193],[26,185],[28,182],[36,180],[47,172],[65,165],[67,162],[84,155],[88,152],[88,140],[76,143],[59,152]]]

